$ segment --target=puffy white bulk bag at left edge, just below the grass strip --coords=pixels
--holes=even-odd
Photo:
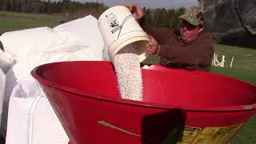
[[[1,35],[0,41],[6,53],[13,55],[31,54],[65,42],[49,27],[6,32]]]

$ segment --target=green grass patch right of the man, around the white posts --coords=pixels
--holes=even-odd
[[[225,66],[227,67],[213,67],[212,72],[256,84],[256,50],[215,45],[215,53],[225,55]],[[234,61],[230,69],[229,66],[232,57],[234,57]]]

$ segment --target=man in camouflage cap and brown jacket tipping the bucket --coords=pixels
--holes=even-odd
[[[204,28],[202,11],[193,6],[180,16],[179,31],[154,28],[144,21],[144,12],[135,4],[125,5],[134,14],[142,29],[149,34],[150,42],[145,47],[148,54],[160,56],[160,64],[186,70],[210,71],[214,54],[213,40]]]

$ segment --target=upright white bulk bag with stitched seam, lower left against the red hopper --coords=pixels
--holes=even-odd
[[[22,78],[10,96],[6,144],[67,144],[61,123],[38,82]]]

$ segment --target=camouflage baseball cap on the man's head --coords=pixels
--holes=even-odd
[[[190,24],[193,26],[203,25],[202,10],[199,6],[193,6],[188,8],[185,11],[185,14],[182,14],[178,18],[182,18],[186,20],[186,22],[190,22]]]

